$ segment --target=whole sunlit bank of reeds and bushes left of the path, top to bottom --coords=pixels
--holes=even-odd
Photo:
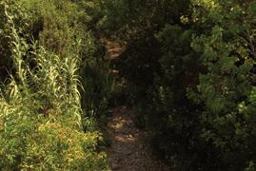
[[[102,135],[81,105],[90,89],[79,92],[81,64],[97,48],[86,11],[68,0],[0,8],[0,168],[107,170]]]

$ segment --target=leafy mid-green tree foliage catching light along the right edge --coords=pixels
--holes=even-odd
[[[201,137],[218,151],[223,170],[255,163],[255,8],[253,1],[193,1],[203,28],[192,47],[207,72],[191,99],[204,104]],[[251,168],[253,169],[253,168]],[[255,168],[254,168],[255,169]]]

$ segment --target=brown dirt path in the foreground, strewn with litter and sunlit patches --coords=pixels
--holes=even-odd
[[[168,171],[154,159],[147,142],[147,132],[136,128],[134,115],[126,106],[113,109],[108,123],[111,146],[108,165],[113,171]]]

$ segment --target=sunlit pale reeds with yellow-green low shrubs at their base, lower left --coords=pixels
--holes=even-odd
[[[78,92],[79,58],[58,57],[28,45],[5,8],[15,72],[0,97],[0,168],[4,170],[107,170],[97,152],[98,132],[83,132]],[[30,67],[25,58],[36,66]]]

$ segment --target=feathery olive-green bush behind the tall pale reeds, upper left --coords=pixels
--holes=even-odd
[[[22,3],[32,16],[31,34],[41,46],[62,56],[73,52],[75,36],[79,37],[78,20],[83,15],[75,3],[69,0],[22,0]]]

